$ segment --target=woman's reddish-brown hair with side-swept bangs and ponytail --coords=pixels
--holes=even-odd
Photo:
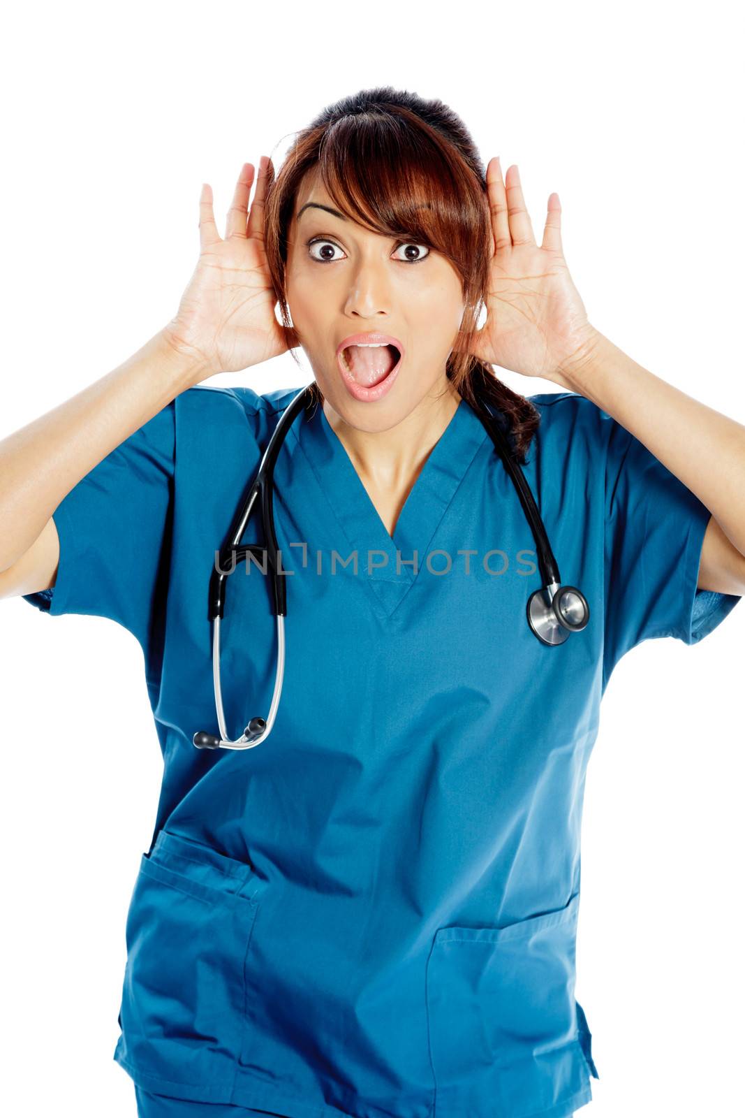
[[[298,187],[316,168],[336,206],[352,220],[384,236],[428,245],[456,268],[466,312],[461,340],[448,358],[448,379],[469,404],[478,394],[502,413],[515,456],[524,464],[538,411],[503,383],[491,366],[468,353],[488,291],[494,240],[486,171],[460,117],[441,101],[382,86],[335,102],[296,134],[265,200],[267,265],[288,329],[287,229]],[[426,208],[416,208],[422,205]],[[323,400],[317,383],[314,389]]]

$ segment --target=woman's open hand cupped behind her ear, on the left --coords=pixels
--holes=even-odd
[[[163,333],[180,352],[211,369],[208,376],[247,369],[298,344],[295,331],[275,316],[277,295],[266,264],[264,199],[273,173],[271,161],[262,155],[249,215],[254,165],[243,163],[225,240],[214,224],[212,188],[202,186],[199,260]]]

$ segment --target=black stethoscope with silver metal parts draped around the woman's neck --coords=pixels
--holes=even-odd
[[[212,678],[214,681],[214,705],[218,714],[220,737],[218,738],[213,733],[199,730],[192,738],[198,749],[252,749],[254,746],[258,746],[268,738],[277,717],[279,697],[281,694],[281,681],[285,673],[284,619],[287,614],[287,595],[285,579],[280,574],[281,559],[277,547],[271,508],[274,467],[279,448],[293,421],[298,413],[311,402],[313,388],[313,385],[303,388],[279,419],[264,452],[256,477],[243,492],[238,511],[220,548],[219,561],[216,562],[210,577],[208,616],[213,625]],[[464,401],[464,406],[466,406],[466,402]],[[523,470],[514,457],[505,433],[484,401],[478,400],[474,410],[486,427],[496,453],[502,457],[507,473],[515,484],[517,495],[537,547],[538,569],[543,586],[539,590],[535,590],[527,600],[528,625],[542,644],[563,644],[570,633],[577,633],[585,627],[590,620],[590,606],[576,586],[561,585],[558,566],[551,550],[538,506],[531,492],[531,486],[525,480]],[[240,543],[240,538],[243,534],[257,496],[260,496],[261,530],[266,540],[266,547],[261,547],[258,543]],[[271,609],[277,618],[277,671],[267,719],[252,718],[240,738],[233,741],[228,737],[222,709],[222,692],[220,690],[220,620],[225,610],[226,579],[249,552],[258,559],[261,559],[266,555],[265,566],[261,569],[265,570],[268,568],[271,577]],[[230,563],[227,570],[226,563]]]

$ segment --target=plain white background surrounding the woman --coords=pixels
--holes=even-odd
[[[538,239],[558,191],[591,322],[745,423],[737,9],[491,0],[447,16],[183,0],[6,15],[0,437],[171,318],[203,181],[223,231],[243,161],[278,168],[322,107],[389,83],[451,105],[485,163],[518,164]],[[210,382],[267,391],[304,370],[284,354]],[[134,1118],[112,1057],[162,771],[142,653],[112,622],[20,598],[0,625],[3,1110]],[[741,604],[698,646],[633,650],[605,693],[577,940],[593,1118],[742,1107],[744,638]]]

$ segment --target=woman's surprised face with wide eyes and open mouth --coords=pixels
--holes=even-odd
[[[334,214],[315,205],[304,209],[307,202]],[[298,189],[288,229],[287,303],[325,400],[353,427],[388,430],[420,404],[427,410],[427,401],[436,404],[451,391],[446,362],[465,310],[461,281],[431,248],[397,244],[335,215],[334,202],[311,172]],[[388,391],[362,400],[347,387],[336,350],[345,338],[374,331],[397,338],[404,356]],[[386,354],[384,349],[360,354],[367,371],[355,372],[354,379],[372,389],[383,369],[375,362],[384,363]],[[350,358],[357,368],[356,356]]]

